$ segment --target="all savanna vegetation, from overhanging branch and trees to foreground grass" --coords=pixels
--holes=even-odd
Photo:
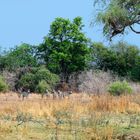
[[[97,5],[91,22],[107,39],[140,33],[139,0]],[[1,51],[0,139],[140,139],[140,46],[94,42],[83,28],[82,17],[59,17],[39,45]]]

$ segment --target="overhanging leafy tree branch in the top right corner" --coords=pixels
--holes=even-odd
[[[97,13],[97,22],[102,23],[104,35],[112,38],[123,34],[127,28],[140,34],[135,25],[140,25],[140,0],[94,0],[102,5]],[[104,8],[103,8],[104,6]]]

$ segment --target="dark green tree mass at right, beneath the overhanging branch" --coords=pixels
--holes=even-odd
[[[119,42],[105,47],[102,43],[94,43],[91,53],[96,68],[139,79],[137,75],[140,75],[140,50],[136,46]]]

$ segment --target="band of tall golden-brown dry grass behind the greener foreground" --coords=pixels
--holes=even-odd
[[[44,98],[32,94],[22,101],[16,94],[0,95],[0,115],[16,115],[17,111],[31,113],[35,117],[43,117],[44,114],[53,117],[54,112],[67,110],[75,116],[90,115],[91,112],[109,113],[140,113],[140,95],[113,97],[109,95],[88,96],[86,94],[73,94],[63,100]]]

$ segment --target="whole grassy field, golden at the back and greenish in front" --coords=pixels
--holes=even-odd
[[[0,95],[0,140],[140,139],[140,95]]]

